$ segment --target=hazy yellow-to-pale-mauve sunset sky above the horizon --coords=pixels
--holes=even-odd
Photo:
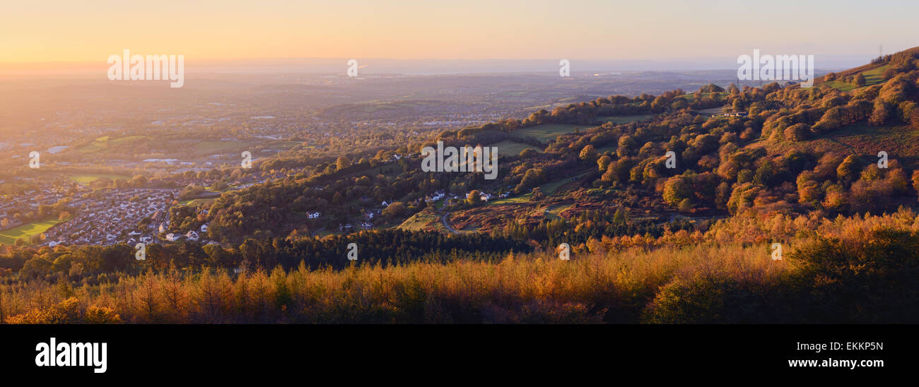
[[[0,62],[261,58],[665,60],[919,46],[902,1],[6,2]]]

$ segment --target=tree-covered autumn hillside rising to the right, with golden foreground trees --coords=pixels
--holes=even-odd
[[[131,322],[216,317],[143,315],[95,287],[170,282],[191,300],[217,282],[273,283],[259,315],[223,300],[240,322],[913,322],[917,79],[909,50],[811,88],[610,95],[335,160],[288,152],[255,163],[263,181],[170,208],[172,232],[207,224],[213,243],[157,244],[145,260],[125,244],[17,246],[0,269],[14,284],[82,282],[62,294]],[[496,147],[494,179],[423,169],[425,147],[464,146]],[[243,172],[214,175],[226,186]],[[562,244],[577,263],[562,266]],[[6,289],[17,322],[70,303]]]

